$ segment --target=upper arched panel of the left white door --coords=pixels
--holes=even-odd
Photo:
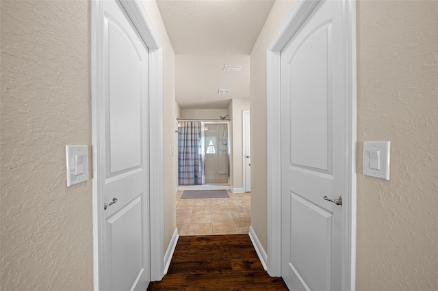
[[[114,68],[108,72],[107,83],[107,137],[110,139],[107,143],[110,146],[107,158],[111,161],[109,174],[112,174],[142,164],[141,91],[144,88],[141,80],[147,75],[147,67],[143,63],[146,61],[147,64],[148,55],[142,55],[142,51],[137,50],[136,44],[120,22],[108,14],[105,19],[107,57]]]

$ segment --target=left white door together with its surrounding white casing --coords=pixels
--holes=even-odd
[[[163,276],[160,48],[140,2],[93,1],[95,290]]]

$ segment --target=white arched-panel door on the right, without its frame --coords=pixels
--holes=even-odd
[[[321,1],[281,53],[281,275],[290,290],[342,290],[348,177],[342,2]]]

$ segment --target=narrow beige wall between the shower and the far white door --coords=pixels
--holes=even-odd
[[[232,135],[232,149],[233,152],[231,158],[232,178],[231,186],[233,192],[242,192],[243,187],[243,148],[242,148],[242,110],[249,110],[249,99],[233,99],[231,107],[231,120],[230,128]],[[229,114],[229,113],[227,113]]]

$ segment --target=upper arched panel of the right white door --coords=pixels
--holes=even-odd
[[[288,64],[291,92],[306,92],[290,100],[291,163],[321,171],[329,170],[332,148],[330,30],[324,23],[307,34]]]

